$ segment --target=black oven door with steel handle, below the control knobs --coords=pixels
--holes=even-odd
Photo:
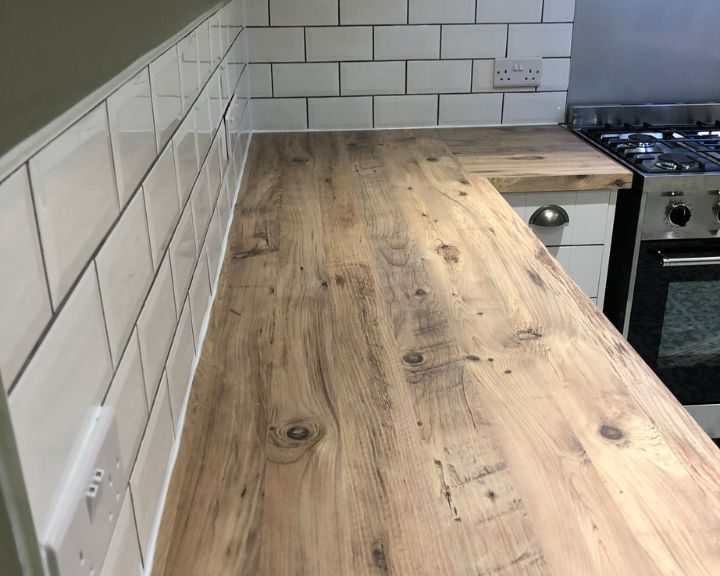
[[[720,437],[720,239],[641,243],[628,340]]]

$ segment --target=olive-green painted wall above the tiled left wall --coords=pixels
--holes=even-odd
[[[219,0],[0,0],[0,156]]]

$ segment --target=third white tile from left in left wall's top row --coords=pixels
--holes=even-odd
[[[118,194],[125,206],[157,156],[148,69],[125,82],[107,106]]]

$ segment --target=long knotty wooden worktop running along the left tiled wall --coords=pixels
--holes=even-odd
[[[432,131],[246,174],[153,574],[720,574],[720,451]]]

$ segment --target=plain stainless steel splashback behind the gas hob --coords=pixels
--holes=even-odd
[[[570,104],[720,101],[720,0],[576,0]]]

